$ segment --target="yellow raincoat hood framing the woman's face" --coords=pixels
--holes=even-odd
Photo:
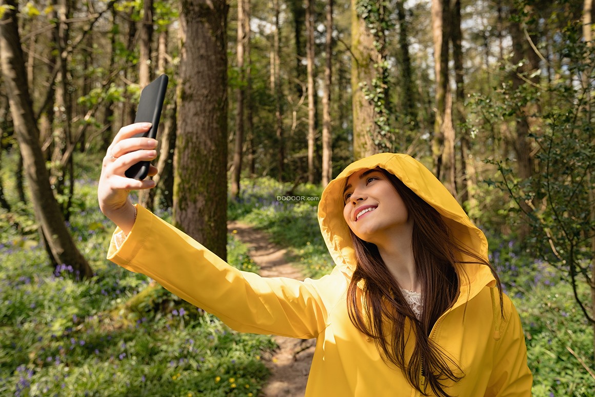
[[[486,236],[471,223],[456,199],[430,170],[407,154],[380,153],[351,163],[322,192],[318,205],[318,222],[328,251],[342,272],[351,276],[356,267],[349,227],[343,218],[345,207],[343,189],[347,178],[352,173],[376,167],[397,176],[415,194],[440,213],[450,231],[455,234],[456,240],[461,241],[470,251],[477,253],[486,261],[488,260]],[[473,261],[471,258],[462,258],[464,261],[466,259]],[[465,264],[465,273],[470,280],[461,280],[464,284],[471,283],[481,276],[486,279],[484,280],[486,284],[483,286],[495,285],[491,271],[485,265]]]

